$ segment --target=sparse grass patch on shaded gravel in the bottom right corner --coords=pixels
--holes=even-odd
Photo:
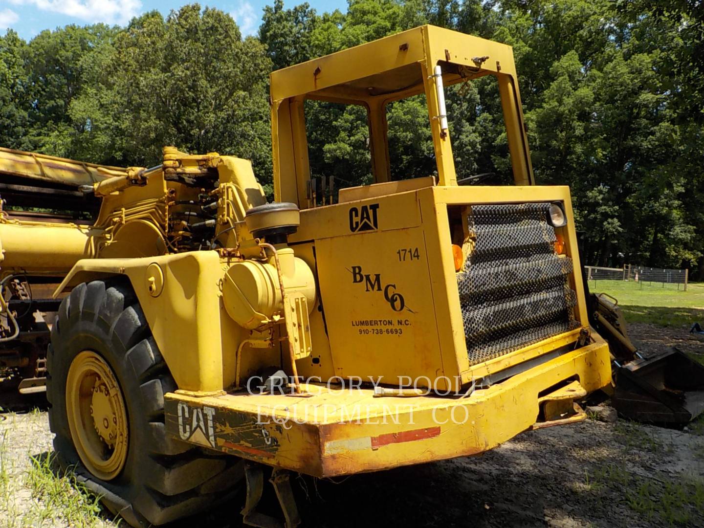
[[[587,472],[586,486],[596,493],[610,489],[646,520],[659,518],[669,526],[692,526],[704,508],[704,482],[679,478],[646,478],[608,464]]]

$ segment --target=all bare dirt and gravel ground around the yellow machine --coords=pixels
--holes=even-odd
[[[672,344],[704,353],[704,337],[684,330],[631,325],[630,333],[648,353]],[[51,451],[46,413],[4,416],[0,525],[67,526],[61,515],[37,515],[47,498],[27,482],[29,456]],[[294,493],[311,527],[704,527],[702,429],[590,419],[520,434],[474,458],[335,481],[298,477]],[[243,504],[244,496],[188,525],[241,526]],[[115,526],[104,514],[87,525]]]

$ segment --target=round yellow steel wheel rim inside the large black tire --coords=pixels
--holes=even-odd
[[[127,461],[127,411],[113,370],[93,351],[79,353],[68,369],[66,415],[86,469],[102,480],[117,477]]]

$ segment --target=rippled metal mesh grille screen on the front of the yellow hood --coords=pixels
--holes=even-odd
[[[550,203],[472,206],[457,274],[470,365],[576,328],[572,259],[555,253]]]

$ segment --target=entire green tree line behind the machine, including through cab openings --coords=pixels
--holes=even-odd
[[[250,158],[271,190],[272,69],[432,23],[513,46],[541,184],[572,189],[584,256],[687,266],[704,276],[704,13],[678,0],[348,0],[263,9],[243,39],[217,9],[184,6],[127,27],[0,37],[0,144],[96,163],[151,165],[161,146]],[[446,92],[460,177],[510,161],[496,81]],[[431,174],[422,96],[387,108],[391,176]],[[363,108],[306,101],[311,168],[369,182]]]

